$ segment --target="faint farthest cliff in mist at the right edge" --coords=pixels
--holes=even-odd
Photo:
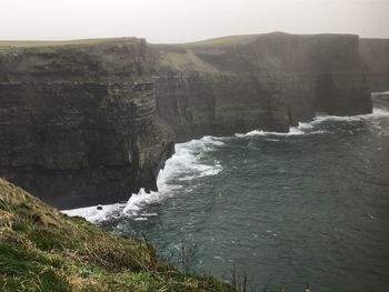
[[[360,39],[360,53],[369,67],[371,90],[389,90],[389,40]]]

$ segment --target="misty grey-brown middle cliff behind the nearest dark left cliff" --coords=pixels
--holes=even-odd
[[[159,51],[158,111],[184,141],[371,112],[357,36],[270,33]]]

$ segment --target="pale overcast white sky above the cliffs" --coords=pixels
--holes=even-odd
[[[389,39],[389,0],[0,0],[0,40],[355,33]]]

